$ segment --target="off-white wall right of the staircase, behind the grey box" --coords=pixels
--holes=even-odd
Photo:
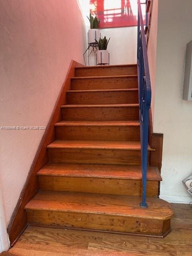
[[[181,180],[192,172],[192,102],[182,100],[192,1],[158,1],[154,132],[164,134],[160,198],[190,202]]]

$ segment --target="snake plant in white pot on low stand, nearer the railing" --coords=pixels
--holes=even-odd
[[[110,38],[109,38],[110,40]],[[104,38],[100,38],[98,43],[97,50],[97,62],[98,64],[108,64],[109,63],[109,51],[107,50],[107,46],[109,43],[109,40],[107,40],[106,36]]]

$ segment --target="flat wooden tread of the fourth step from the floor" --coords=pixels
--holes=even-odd
[[[108,120],[108,121],[84,121],[84,120],[77,120],[77,121],[68,121],[62,120],[55,124],[55,126],[140,126],[139,121],[129,121],[129,120]]]

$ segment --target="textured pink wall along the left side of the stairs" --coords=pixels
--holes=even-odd
[[[0,126],[46,126],[72,59],[83,63],[86,32],[76,0],[0,1]],[[0,130],[6,223],[44,130]]]

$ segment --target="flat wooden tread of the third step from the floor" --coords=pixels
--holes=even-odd
[[[140,141],[106,141],[106,140],[55,140],[47,148],[94,148],[141,150]],[[149,151],[154,151],[148,145]]]

